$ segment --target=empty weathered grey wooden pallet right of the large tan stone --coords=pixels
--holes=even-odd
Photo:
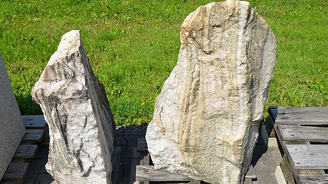
[[[288,183],[328,183],[328,107],[269,107]]]

